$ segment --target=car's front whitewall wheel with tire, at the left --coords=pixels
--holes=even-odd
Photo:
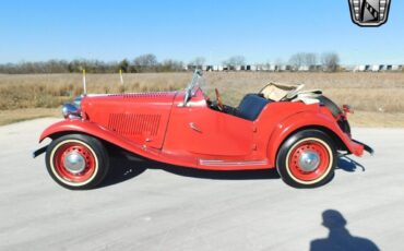
[[[46,166],[52,179],[72,190],[96,187],[108,172],[108,154],[93,136],[69,134],[54,140],[46,152]]]

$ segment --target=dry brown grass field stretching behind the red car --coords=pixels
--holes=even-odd
[[[192,73],[87,74],[88,93],[129,93],[183,88]],[[269,82],[306,84],[321,88],[337,104],[356,110],[354,125],[404,127],[403,73],[269,73],[212,72],[205,74],[211,89],[217,87],[226,104],[237,106],[246,93]],[[55,116],[64,101],[82,93],[80,74],[1,75],[0,124]]]

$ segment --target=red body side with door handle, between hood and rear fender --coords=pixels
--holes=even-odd
[[[253,148],[252,134],[251,121],[191,100],[187,107],[173,107],[166,146],[197,155],[246,156]]]

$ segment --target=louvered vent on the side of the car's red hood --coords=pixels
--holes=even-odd
[[[161,115],[112,113],[108,128],[126,135],[157,135]]]

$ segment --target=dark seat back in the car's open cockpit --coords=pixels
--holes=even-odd
[[[237,115],[240,118],[254,121],[269,103],[270,100],[257,94],[247,94],[237,108]]]

